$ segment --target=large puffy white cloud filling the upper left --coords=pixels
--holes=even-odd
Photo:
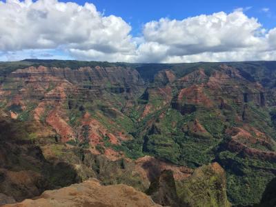
[[[103,17],[92,3],[0,1],[0,50],[62,48],[129,53],[135,43],[121,17]]]

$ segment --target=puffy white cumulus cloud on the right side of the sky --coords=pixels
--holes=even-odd
[[[260,43],[255,35],[260,27],[256,19],[249,19],[242,12],[219,12],[182,21],[152,21],[146,23],[144,37],[146,41],[171,46],[175,55],[189,55],[255,46]]]

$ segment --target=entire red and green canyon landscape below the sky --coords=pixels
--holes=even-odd
[[[1,62],[0,204],[273,206],[275,69]]]

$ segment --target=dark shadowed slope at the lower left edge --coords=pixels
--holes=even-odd
[[[63,161],[45,159],[30,140],[32,124],[0,118],[0,204],[38,196],[44,190],[81,181],[74,168]],[[8,199],[9,198],[9,199]]]

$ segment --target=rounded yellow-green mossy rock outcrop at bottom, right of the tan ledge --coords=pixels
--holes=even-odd
[[[193,175],[177,182],[177,195],[188,206],[228,207],[226,175],[217,163],[197,168]]]

